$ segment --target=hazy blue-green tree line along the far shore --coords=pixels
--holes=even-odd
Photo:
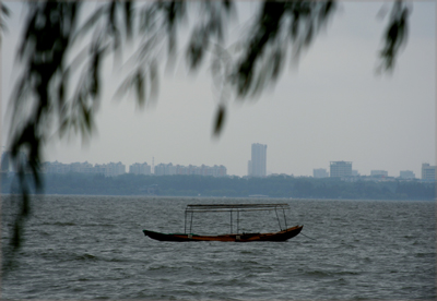
[[[17,193],[14,177],[1,179],[2,193]],[[420,181],[345,182],[339,178],[315,179],[276,176],[268,178],[202,177],[202,176],[144,176],[126,173],[118,177],[103,174],[46,174],[46,194],[87,195],[172,195],[346,200],[435,200],[436,184]],[[35,191],[33,192],[35,193]]]

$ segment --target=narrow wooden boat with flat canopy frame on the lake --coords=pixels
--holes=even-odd
[[[290,205],[285,203],[280,204],[197,204],[187,205],[185,210],[185,231],[184,233],[162,233],[151,230],[143,230],[144,236],[158,240],[158,241],[235,241],[235,242],[251,242],[251,241],[286,241],[298,233],[300,233],[304,226],[287,227],[285,209],[290,209]],[[258,232],[240,232],[239,231],[239,214],[241,212],[253,212],[253,210],[274,210],[276,213],[280,231],[269,233]],[[282,210],[284,228],[282,227],[277,210]],[[217,236],[202,236],[192,233],[192,218],[194,213],[206,213],[206,212],[229,212],[231,213],[231,234],[217,234]],[[237,215],[236,218],[236,231],[234,231],[233,216]],[[190,226],[188,228],[188,219],[190,218]],[[187,231],[188,230],[188,231]]]

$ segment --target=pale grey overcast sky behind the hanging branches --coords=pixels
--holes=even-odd
[[[16,77],[14,55],[24,14],[13,15],[2,38],[2,145],[7,145],[7,101]],[[377,75],[378,50],[387,24],[376,16],[391,2],[340,2],[334,17],[297,68],[257,99],[228,100],[218,139],[212,135],[217,95],[208,65],[191,74],[184,60],[173,74],[161,73],[158,98],[139,109],[133,98],[114,99],[120,81],[107,67],[107,84],[96,112],[97,131],[88,143],[80,136],[55,136],[44,160],[224,165],[228,174],[246,176],[252,143],[267,144],[268,173],[312,176],[330,161],[352,161],[362,176],[387,170],[399,177],[423,162],[436,164],[436,2],[414,1],[408,44],[392,74]],[[240,23],[255,2],[238,2]],[[235,22],[231,33],[240,28]],[[233,27],[235,26],[235,27]],[[181,44],[184,44],[181,41]],[[118,84],[117,84],[118,83]]]

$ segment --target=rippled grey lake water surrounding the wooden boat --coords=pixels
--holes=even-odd
[[[160,242],[184,232],[187,204],[283,203],[286,242]],[[44,196],[34,201],[3,299],[436,299],[434,202]],[[279,230],[274,213],[240,229]],[[2,198],[2,242],[10,200]],[[229,216],[197,216],[192,232],[229,232]]]

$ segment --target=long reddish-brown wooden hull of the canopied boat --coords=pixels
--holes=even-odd
[[[286,241],[300,233],[304,226],[295,226],[274,233],[241,233],[241,234],[222,234],[222,236],[197,236],[186,233],[161,233],[143,230],[144,236],[158,241]]]

